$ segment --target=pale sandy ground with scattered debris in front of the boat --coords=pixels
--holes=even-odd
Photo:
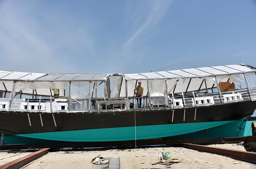
[[[238,144],[209,144],[212,147],[222,147],[244,150],[242,143]],[[164,165],[151,165],[157,162],[159,152],[170,151],[172,158],[184,159],[184,162],[170,165],[172,168],[255,168],[256,165],[221,155],[199,152],[181,147],[150,147],[140,149],[112,149],[112,150],[64,150],[49,152],[38,158],[26,169],[60,169],[60,168],[92,168],[101,169],[100,165],[90,163],[92,158],[101,154],[102,157],[120,157],[123,169],[165,168]],[[245,151],[245,150],[244,150]],[[0,157],[11,156],[13,153],[0,152]],[[27,154],[25,154],[27,155]],[[16,158],[19,158],[15,156]],[[13,160],[13,159],[12,159]],[[203,161],[207,161],[205,163]],[[6,160],[11,161],[11,159]],[[6,162],[5,161],[5,162]],[[0,164],[5,163],[0,160]],[[234,164],[239,162],[238,164]]]

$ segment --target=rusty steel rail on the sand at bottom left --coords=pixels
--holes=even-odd
[[[50,150],[50,148],[45,148],[45,149],[41,149],[41,150],[38,150],[36,152],[33,152],[31,154],[28,154],[24,157],[21,157],[21,158],[18,158],[16,160],[13,160],[9,163],[6,163],[4,165],[0,165],[0,168],[1,169],[16,169],[16,168],[20,168],[26,164],[28,164],[29,162],[39,158],[39,157],[42,157],[43,155],[47,154],[48,151]]]

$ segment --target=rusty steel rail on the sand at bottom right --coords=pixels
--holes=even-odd
[[[184,143],[183,145],[185,148],[188,148],[188,149],[204,151],[204,152],[209,152],[209,153],[214,153],[214,154],[220,154],[223,156],[256,163],[256,152],[231,150],[231,149],[209,147],[209,146],[204,146],[204,145],[188,144],[188,143]]]

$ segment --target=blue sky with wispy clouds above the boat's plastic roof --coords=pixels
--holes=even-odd
[[[1,70],[256,66],[256,1],[0,0]]]

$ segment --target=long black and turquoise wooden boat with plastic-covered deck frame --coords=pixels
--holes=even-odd
[[[0,71],[0,132],[108,142],[209,129],[252,115],[255,72],[245,64],[137,74]],[[139,81],[141,108],[133,91]],[[52,89],[59,89],[60,96],[54,98]]]

